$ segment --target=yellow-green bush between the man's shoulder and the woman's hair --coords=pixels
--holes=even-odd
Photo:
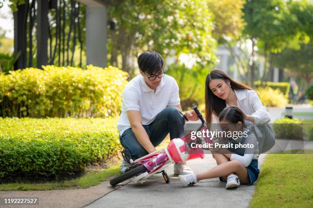
[[[172,64],[166,70],[166,74],[174,77],[180,88],[181,105],[184,110],[193,103],[205,102],[205,83],[209,72],[208,68],[195,66],[190,69],[178,64]]]

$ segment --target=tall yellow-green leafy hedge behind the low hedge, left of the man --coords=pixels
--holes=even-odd
[[[0,116],[102,117],[120,113],[127,73],[43,66],[0,73]]]

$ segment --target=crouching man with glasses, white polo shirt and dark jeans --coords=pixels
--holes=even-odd
[[[178,86],[173,77],[165,75],[161,55],[148,51],[138,57],[140,75],[123,91],[122,113],[118,121],[120,142],[133,160],[155,151],[170,134],[170,139],[184,136],[185,120],[196,120],[182,113]],[[123,160],[124,173],[130,164]],[[186,163],[174,164],[175,174],[192,173]]]

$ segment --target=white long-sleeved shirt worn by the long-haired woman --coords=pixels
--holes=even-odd
[[[269,113],[262,105],[258,94],[254,90],[234,90],[237,97],[237,107],[245,114],[254,117],[254,123],[269,123],[271,121]],[[228,106],[226,104],[226,106]],[[246,121],[251,123],[250,121]],[[212,123],[219,123],[218,117],[213,114]]]

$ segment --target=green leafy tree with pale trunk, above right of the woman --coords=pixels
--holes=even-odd
[[[247,22],[243,33],[252,41],[249,60],[251,85],[254,83],[254,56],[256,46],[262,48],[265,65],[269,51],[280,51],[285,47],[287,39],[295,35],[286,21],[288,10],[283,0],[247,0],[244,5],[243,19]],[[264,69],[265,74],[265,69]]]

